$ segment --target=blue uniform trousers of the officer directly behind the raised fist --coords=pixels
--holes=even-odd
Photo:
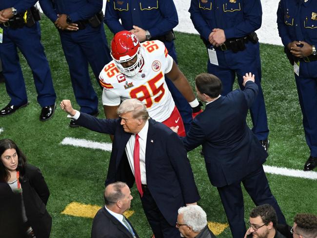
[[[95,114],[98,111],[98,97],[89,77],[88,63],[99,83],[100,71],[111,60],[103,24],[97,28],[87,24],[85,29],[59,31],[59,35],[80,111]]]

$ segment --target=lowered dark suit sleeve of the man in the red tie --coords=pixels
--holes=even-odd
[[[167,156],[177,174],[185,203],[197,202],[200,197],[183,144],[176,133],[171,133],[171,135],[167,137],[166,142]]]

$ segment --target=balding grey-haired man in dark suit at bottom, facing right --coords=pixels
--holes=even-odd
[[[91,238],[139,238],[123,213],[130,208],[131,192],[124,182],[109,184],[104,190],[105,205],[96,214]]]

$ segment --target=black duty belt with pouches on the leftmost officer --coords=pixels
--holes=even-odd
[[[32,27],[38,20],[40,20],[40,11],[35,6],[32,6],[25,12],[17,14],[13,18],[10,18],[7,22],[4,22],[3,26],[10,27],[12,29],[22,28],[24,26]]]

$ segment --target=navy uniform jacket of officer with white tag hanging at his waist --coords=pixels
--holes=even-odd
[[[223,29],[226,39],[244,37],[262,22],[260,0],[191,0],[189,12],[205,40],[214,28]]]

